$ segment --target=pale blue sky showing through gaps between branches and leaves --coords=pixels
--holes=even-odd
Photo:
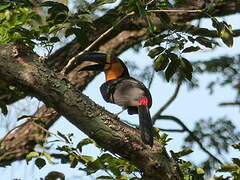
[[[240,15],[229,16],[224,20],[232,25],[233,29],[240,29],[239,25],[239,17]],[[204,20],[202,22],[204,26],[209,27],[210,21]],[[221,43],[221,47],[216,48],[214,51],[203,50],[200,53],[189,53],[186,55],[186,58],[190,61],[197,60],[208,60],[213,57],[218,57],[221,55],[230,55],[234,56],[239,54],[239,43],[240,38],[236,38],[234,41],[234,45],[232,48],[227,48],[223,43]],[[147,50],[142,49],[140,53],[135,53],[132,50],[126,51],[125,53],[120,55],[122,60],[131,60],[137,61],[137,64],[140,67],[144,67],[146,65],[150,65],[152,60],[147,56]],[[209,91],[206,89],[208,82],[211,79],[215,79],[216,76],[213,75],[201,75],[199,78],[200,88],[189,91],[185,85],[183,85],[180,89],[177,99],[169,106],[169,108],[163,113],[166,115],[173,115],[181,119],[190,129],[193,128],[194,123],[199,119],[207,119],[209,117],[213,117],[213,119],[217,119],[219,117],[226,116],[233,120],[235,124],[239,121],[239,108],[237,107],[219,107],[218,104],[225,101],[233,101],[235,98],[235,91],[232,87],[217,87],[214,94],[210,95]],[[120,107],[106,103],[100,94],[100,91],[96,91],[101,84],[104,82],[104,74],[101,73],[96,79],[87,87],[84,91],[84,94],[88,95],[92,100],[96,103],[101,104],[107,110],[116,113],[121,110]],[[153,81],[153,85],[150,89],[153,96],[153,106],[151,108],[151,114],[153,115],[159,107],[161,107],[165,102],[169,99],[172,93],[175,90],[175,85],[171,83],[167,83],[163,81],[161,78],[156,77]],[[0,116],[0,137],[2,137],[8,129],[11,129],[16,125],[15,119],[16,115],[19,117],[21,114],[31,114],[33,113],[37,107],[39,107],[41,103],[35,99],[27,97],[25,100],[21,100],[20,102],[13,105],[10,108],[10,113],[7,117]],[[121,119],[127,120],[131,123],[138,124],[137,115],[128,115],[127,112],[123,112],[120,115]],[[9,123],[9,121],[13,121],[13,123]],[[9,125],[10,124],[10,125]],[[172,122],[160,121],[156,123],[157,127],[161,128],[171,128],[177,127]],[[61,133],[74,133],[74,142],[77,144],[80,139],[86,137],[82,132],[80,132],[77,128],[67,122],[64,118],[60,118],[53,127],[50,129],[51,132],[56,133],[60,131]],[[182,139],[186,136],[186,133],[168,133],[172,141],[167,146],[167,149],[172,149],[173,151],[179,151],[181,149]],[[195,162],[201,161],[201,159],[205,158],[206,155],[201,150],[199,150],[196,146],[194,148],[194,152],[187,157],[186,159],[194,160]],[[83,149],[83,154],[85,155],[98,155],[99,150],[94,146],[89,145]],[[230,159],[234,156],[239,156],[236,151],[233,149],[231,153],[228,155],[227,159]],[[201,158],[199,158],[201,157]],[[16,171],[16,169],[18,171]],[[69,165],[47,165],[39,170],[33,163],[29,163],[26,165],[25,162],[15,162],[11,167],[0,168],[0,172],[4,180],[12,180],[14,178],[20,178],[22,180],[33,180],[39,179],[40,177],[44,177],[50,171],[60,171],[66,175],[66,180],[73,179],[83,179],[83,180],[91,180],[94,177],[87,177],[84,173],[78,171],[77,169],[69,168]]]

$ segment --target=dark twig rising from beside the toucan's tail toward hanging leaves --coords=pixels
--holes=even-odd
[[[159,119],[160,115],[162,114],[162,112],[176,99],[181,84],[182,84],[182,77],[179,77],[178,82],[177,82],[177,86],[176,89],[173,93],[173,95],[169,98],[169,100],[159,109],[159,111],[152,117],[152,122],[153,124],[156,122],[157,119]]]

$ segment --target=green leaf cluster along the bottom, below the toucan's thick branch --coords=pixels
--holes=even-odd
[[[48,154],[46,152],[38,153],[31,152],[27,156],[27,160],[30,161],[36,158],[35,164],[41,169],[46,165],[45,159],[48,163],[54,163],[52,157],[55,159],[61,159],[61,163],[69,163],[71,168],[77,168],[81,165],[79,170],[86,172],[87,175],[96,173],[97,171],[103,171],[106,175],[101,175],[97,179],[138,179],[134,173],[138,173],[138,169],[130,164],[127,160],[116,157],[108,152],[101,153],[97,158],[82,154],[82,149],[89,144],[95,144],[95,142],[86,138],[81,140],[76,147],[73,147],[72,141],[73,134],[62,134],[58,132],[59,137],[54,142],[62,142],[64,145],[58,146],[56,149],[60,152],[59,154]],[[43,158],[44,157],[44,158]],[[84,166],[84,168],[82,167]]]

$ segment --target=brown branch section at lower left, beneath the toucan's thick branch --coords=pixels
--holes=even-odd
[[[6,164],[6,160],[11,163],[13,160],[23,159],[29,152],[33,151],[35,144],[44,143],[48,134],[44,133],[33,121],[40,122],[43,128],[48,129],[59,116],[59,113],[53,108],[46,106],[39,108],[34,118],[30,118],[1,141],[1,148],[4,148],[6,153],[0,154],[0,164],[2,160]]]

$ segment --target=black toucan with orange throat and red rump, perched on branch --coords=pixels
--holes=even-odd
[[[116,56],[90,52],[78,56],[77,61],[96,63],[80,71],[104,71],[106,82],[100,87],[103,99],[127,109],[130,115],[138,114],[141,139],[152,147],[153,125],[149,112],[152,97],[145,85],[131,77],[124,62]]]

